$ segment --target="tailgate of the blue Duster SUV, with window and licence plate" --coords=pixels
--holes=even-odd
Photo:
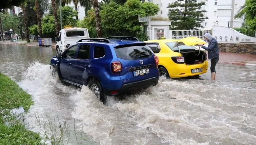
[[[156,69],[154,53],[146,43],[118,46],[114,49],[118,61],[122,64],[120,78],[124,84],[155,76],[153,74]]]

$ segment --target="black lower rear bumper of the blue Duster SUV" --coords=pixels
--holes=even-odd
[[[135,81],[124,84],[120,90],[104,90],[106,95],[123,95],[135,90],[142,90],[158,84],[159,77],[148,78],[145,80]],[[111,91],[118,91],[117,94],[110,94]]]

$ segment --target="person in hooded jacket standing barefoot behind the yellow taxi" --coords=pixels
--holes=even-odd
[[[202,44],[199,44],[198,46],[201,46],[203,49],[208,51],[208,59],[211,60],[211,80],[216,80],[216,65],[219,61],[219,46],[218,42],[215,38],[212,37],[210,33],[206,33],[204,35],[204,38],[209,42],[208,47],[203,46]]]

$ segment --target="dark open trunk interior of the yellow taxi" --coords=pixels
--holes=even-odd
[[[189,52],[181,52],[186,65],[201,64],[207,60],[207,55],[204,51],[194,50]]]

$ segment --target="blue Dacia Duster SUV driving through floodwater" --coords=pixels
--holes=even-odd
[[[88,86],[103,103],[106,95],[121,95],[155,86],[158,58],[135,37],[86,38],[51,59],[61,81]]]

